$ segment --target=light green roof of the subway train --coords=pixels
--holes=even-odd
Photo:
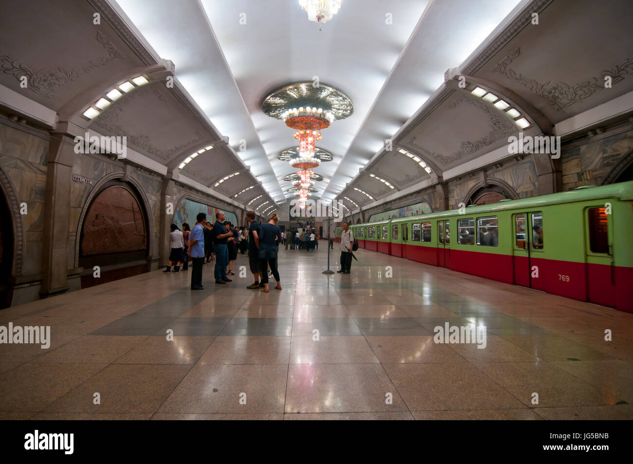
[[[592,199],[616,198],[618,200],[633,200],[633,180],[629,182],[618,182],[617,184],[600,185],[599,187],[589,187],[567,192],[558,192],[549,195],[541,195],[517,200],[501,201],[499,203],[482,204],[480,206],[467,206],[466,213],[460,214],[458,210],[437,211],[417,216],[407,216],[404,218],[391,219],[392,223],[409,222],[411,220],[425,218],[442,218],[447,216],[470,216],[480,213],[495,213],[496,211],[515,210],[517,208],[541,208],[549,204],[573,203],[576,201],[586,201]],[[367,222],[356,224],[357,227],[363,225],[382,224],[389,221]]]

